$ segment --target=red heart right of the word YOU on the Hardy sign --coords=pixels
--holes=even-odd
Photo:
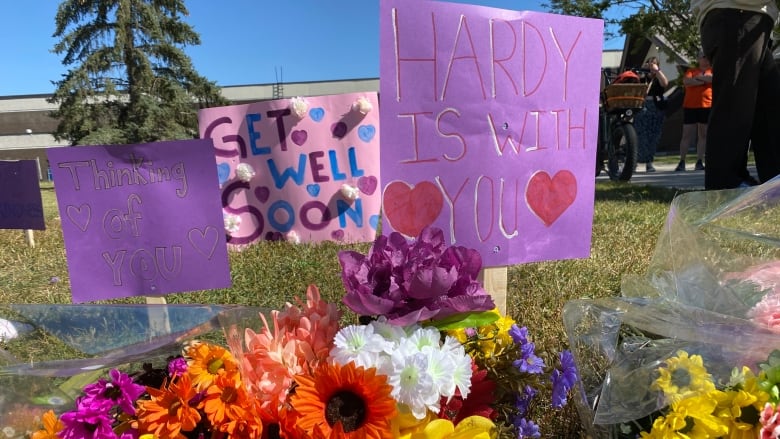
[[[528,181],[525,202],[545,226],[550,226],[577,198],[577,179],[570,171],[558,171],[553,178],[537,171]]]

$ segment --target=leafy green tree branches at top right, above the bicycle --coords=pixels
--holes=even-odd
[[[551,11],[604,20],[604,37],[657,35],[679,54],[695,58],[699,29],[689,0],[550,0]]]

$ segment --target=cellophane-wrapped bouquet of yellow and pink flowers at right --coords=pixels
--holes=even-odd
[[[780,180],[676,196],[646,274],[563,318],[592,438],[780,437]]]

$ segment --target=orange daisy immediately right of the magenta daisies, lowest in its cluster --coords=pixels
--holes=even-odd
[[[198,394],[190,376],[184,374],[161,389],[147,387],[150,400],[138,402],[138,429],[154,437],[179,438],[182,431],[192,431],[200,422],[200,413],[190,401]]]

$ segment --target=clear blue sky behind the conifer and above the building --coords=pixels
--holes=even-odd
[[[542,11],[537,0],[463,0]],[[52,93],[65,73],[57,0],[5,1],[0,14],[0,96]],[[379,76],[378,0],[195,0],[186,22],[201,45],[186,48],[198,72],[220,86]],[[608,41],[605,48],[620,48]]]

